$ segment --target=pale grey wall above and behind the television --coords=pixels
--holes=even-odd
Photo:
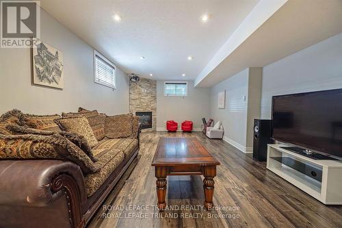
[[[342,33],[263,68],[261,118],[271,118],[272,96],[342,88]]]

